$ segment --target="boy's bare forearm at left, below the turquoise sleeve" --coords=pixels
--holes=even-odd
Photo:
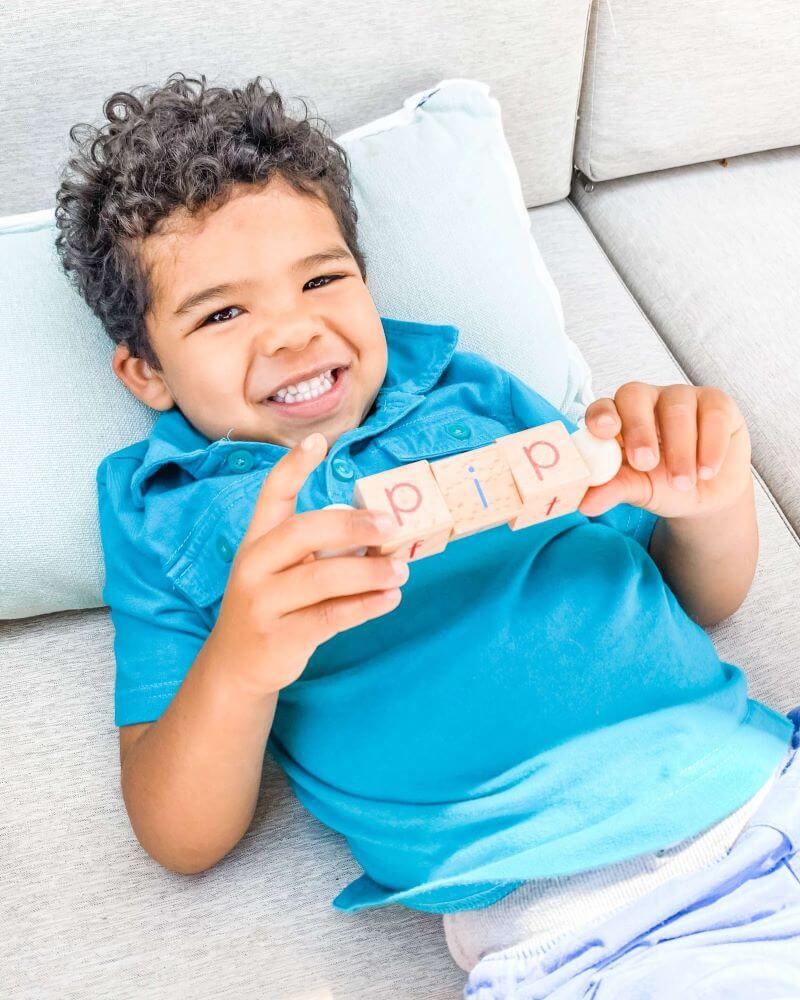
[[[182,874],[212,867],[247,831],[278,701],[277,692],[256,699],[228,681],[230,665],[213,635],[122,765],[139,843]]]

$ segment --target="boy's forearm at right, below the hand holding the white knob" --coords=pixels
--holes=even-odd
[[[707,628],[747,596],[758,562],[753,477],[739,499],[707,517],[660,518],[648,551],[686,613]]]

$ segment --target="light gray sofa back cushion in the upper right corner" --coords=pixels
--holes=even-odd
[[[575,164],[591,180],[800,143],[797,0],[592,5]]]

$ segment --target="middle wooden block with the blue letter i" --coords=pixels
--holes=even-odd
[[[497,444],[431,462],[431,471],[453,515],[452,539],[505,524],[522,500]]]

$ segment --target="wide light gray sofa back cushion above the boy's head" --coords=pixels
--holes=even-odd
[[[116,90],[174,72],[261,74],[333,135],[437,80],[485,80],[503,108],[528,208],[569,193],[590,0],[139,0],[88,20],[73,3],[3,4],[0,216],[50,205],[76,122]]]

